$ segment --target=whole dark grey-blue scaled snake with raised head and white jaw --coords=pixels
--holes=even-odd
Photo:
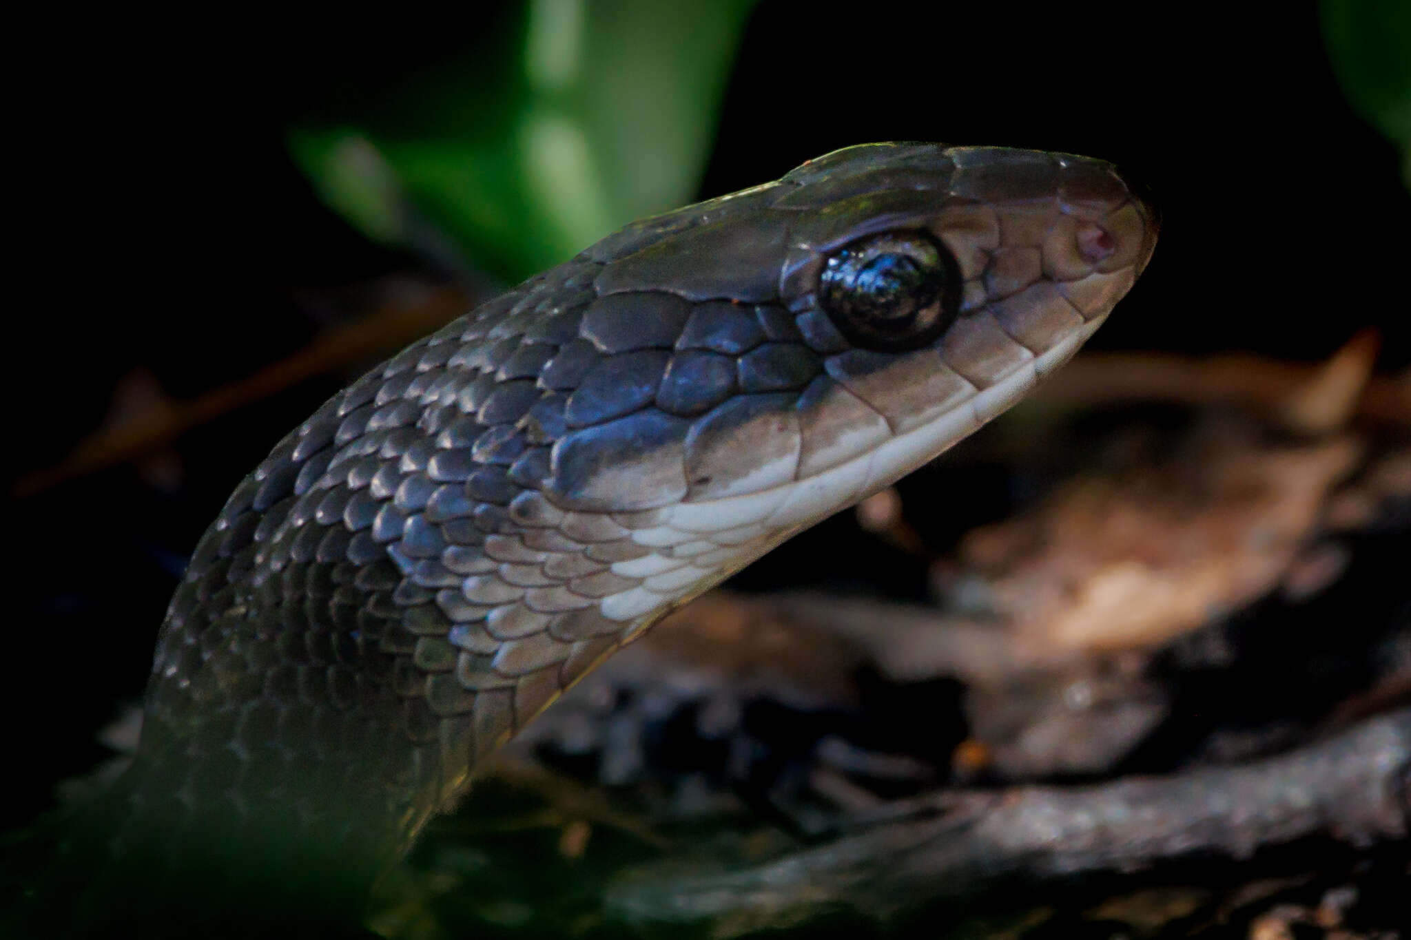
[[[497,747],[1023,397],[1157,233],[1103,161],[858,145],[629,224],[411,344],[202,536],[133,764],[66,817],[17,922],[356,930]]]

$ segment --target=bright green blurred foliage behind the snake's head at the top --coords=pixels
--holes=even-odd
[[[752,6],[531,0],[330,82],[289,149],[368,237],[518,280],[693,197]]]

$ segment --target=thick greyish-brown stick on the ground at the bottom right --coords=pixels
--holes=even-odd
[[[646,877],[608,896],[638,924],[710,923],[713,936],[797,926],[820,910],[875,922],[1003,885],[1130,872],[1191,857],[1246,860],[1266,846],[1405,839],[1411,709],[1239,767],[1092,786],[941,793],[917,815],[765,865]],[[940,817],[927,810],[943,809]]]

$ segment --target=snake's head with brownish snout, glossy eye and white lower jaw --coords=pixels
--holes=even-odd
[[[614,407],[556,441],[545,492],[683,528],[797,530],[1067,361],[1156,235],[1109,163],[933,144],[851,147],[631,225],[581,256],[604,265],[583,335],[642,381],[602,369],[617,383],[573,393],[570,412]]]

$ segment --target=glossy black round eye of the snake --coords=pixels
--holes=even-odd
[[[955,320],[955,259],[917,231],[871,235],[828,256],[818,303],[838,330],[869,350],[919,350]]]

